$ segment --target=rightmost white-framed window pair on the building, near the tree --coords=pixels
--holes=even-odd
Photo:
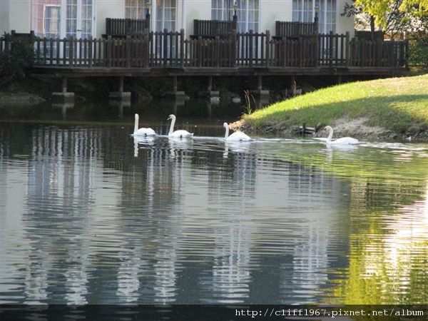
[[[320,33],[336,32],[336,0],[292,0],[292,21],[312,22],[315,12]]]

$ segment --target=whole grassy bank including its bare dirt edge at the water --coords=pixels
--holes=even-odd
[[[243,115],[231,128],[248,132],[313,137],[428,141],[428,74],[345,83],[274,103]]]

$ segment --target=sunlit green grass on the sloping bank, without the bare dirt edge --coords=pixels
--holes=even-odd
[[[243,116],[249,126],[276,129],[306,123],[330,125],[339,118],[367,118],[368,126],[397,133],[428,128],[428,74],[358,81],[280,101]]]

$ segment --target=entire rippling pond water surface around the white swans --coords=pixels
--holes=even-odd
[[[428,144],[225,144],[239,113],[0,107],[0,302],[427,303]]]

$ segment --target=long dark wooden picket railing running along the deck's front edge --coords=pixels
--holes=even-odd
[[[39,66],[404,67],[408,43],[351,40],[349,34],[332,33],[274,38],[269,31],[185,39],[182,29],[124,39],[36,39],[34,49]]]

